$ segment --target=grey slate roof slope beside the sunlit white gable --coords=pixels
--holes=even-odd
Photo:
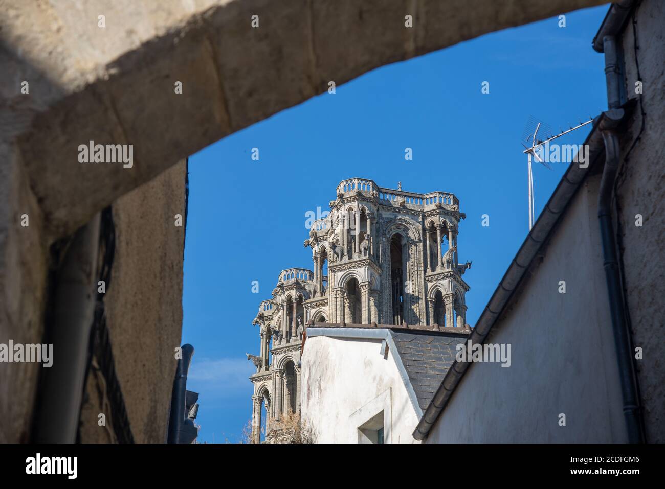
[[[466,342],[468,336],[394,330],[390,335],[424,412],[455,361],[456,345]]]

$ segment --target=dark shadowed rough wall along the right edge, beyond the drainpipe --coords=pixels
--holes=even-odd
[[[632,116],[630,130],[620,135],[623,165],[618,177],[620,235],[623,241],[624,271],[628,291],[628,309],[636,347],[643,349],[637,362],[642,391],[644,422],[648,442],[665,442],[665,361],[662,355],[665,337],[663,298],[665,297],[665,3],[643,1],[636,13],[637,60],[642,76],[644,131],[625,161],[632,142],[640,134],[642,116],[639,105]],[[633,26],[622,36],[626,62],[628,98],[638,98]],[[637,227],[636,215],[642,215]],[[616,221],[615,221],[616,229]]]

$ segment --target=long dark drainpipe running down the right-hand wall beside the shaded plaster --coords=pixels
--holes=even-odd
[[[605,53],[605,76],[607,82],[607,104],[609,110],[602,114],[600,130],[605,144],[605,166],[600,179],[598,196],[598,219],[600,223],[600,239],[602,241],[603,267],[607,284],[607,295],[610,303],[614,345],[621,383],[623,411],[628,430],[628,442],[644,442],[642,433],[642,412],[635,384],[632,351],[626,326],[626,312],[622,297],[622,287],[616,258],[616,244],[612,229],[611,199],[614,179],[619,165],[620,147],[616,135],[616,127],[624,117],[620,108],[621,74],[618,66],[616,39],[614,36],[603,38]]]

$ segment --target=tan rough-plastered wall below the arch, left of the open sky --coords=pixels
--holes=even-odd
[[[180,161],[112,206],[116,252],[106,315],[136,442],[166,441],[182,326],[185,173]],[[176,214],[183,227],[174,225]],[[112,425],[104,379],[91,373],[87,394],[81,439],[106,441],[112,430],[97,423],[98,413],[106,413]]]

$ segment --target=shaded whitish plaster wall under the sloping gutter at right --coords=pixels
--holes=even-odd
[[[626,442],[598,185],[595,175],[581,186],[543,262],[487,340],[511,343],[511,367],[471,365],[427,442]]]

